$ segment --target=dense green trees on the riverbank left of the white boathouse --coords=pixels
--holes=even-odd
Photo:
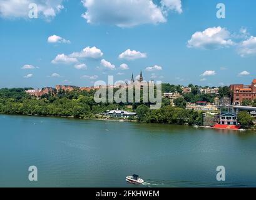
[[[90,118],[108,109],[123,109],[120,104],[96,104],[94,92],[60,91],[56,95],[44,94],[36,99],[26,94],[25,90],[0,89],[0,113]]]

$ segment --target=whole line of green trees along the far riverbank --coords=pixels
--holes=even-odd
[[[195,88],[195,86],[193,86]],[[0,89],[0,113],[38,116],[62,116],[83,119],[100,119],[102,113],[107,110],[120,109],[134,111],[136,117],[131,121],[141,123],[165,123],[165,124],[188,124],[203,125],[203,111],[185,109],[186,103],[207,101],[213,103],[215,95],[198,94],[194,89],[190,94],[183,94],[182,98],[174,100],[175,106],[170,104],[169,99],[162,99],[161,108],[150,109],[150,103],[95,103],[95,91],[63,90],[44,94],[40,98],[30,96],[25,91],[30,88],[3,88]],[[162,85],[162,93],[180,93],[181,86],[170,84]],[[228,87],[220,87],[218,96],[231,96],[232,91]],[[238,121],[242,128],[250,128],[253,119],[247,113],[238,114]]]

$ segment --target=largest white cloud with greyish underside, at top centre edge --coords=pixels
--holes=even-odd
[[[115,24],[132,27],[139,24],[166,22],[165,14],[151,0],[82,0],[82,15],[91,24]]]

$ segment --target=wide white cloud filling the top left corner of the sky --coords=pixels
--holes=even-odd
[[[38,17],[52,18],[64,8],[63,0],[0,0],[0,17],[28,18],[29,4],[36,4],[38,6]]]

